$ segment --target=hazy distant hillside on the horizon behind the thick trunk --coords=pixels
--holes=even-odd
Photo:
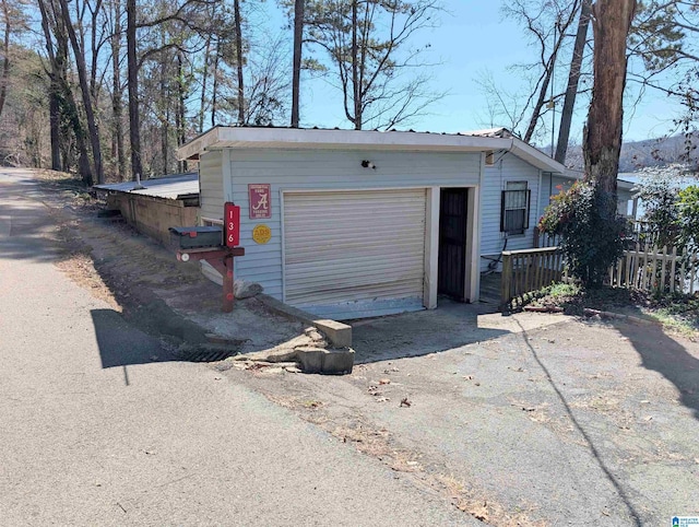
[[[699,134],[695,133],[694,144],[699,141]],[[550,147],[541,149],[550,152]],[[636,172],[645,166],[664,166],[670,163],[683,163],[686,161],[686,144],[683,134],[647,139],[644,141],[625,142],[621,147],[619,159],[619,172]],[[695,165],[699,163],[697,152],[691,153]],[[582,169],[582,147],[571,145],[566,156],[566,165],[570,168]]]

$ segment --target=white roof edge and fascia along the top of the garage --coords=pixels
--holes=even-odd
[[[505,130],[505,129],[494,129]],[[382,150],[413,152],[512,152],[545,172],[564,165],[509,133],[430,133],[415,131],[216,127],[180,147],[178,160],[198,160],[222,149]]]

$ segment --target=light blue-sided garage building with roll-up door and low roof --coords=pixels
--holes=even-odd
[[[502,131],[216,127],[178,157],[199,161],[200,224],[241,207],[236,278],[334,319],[477,301],[482,255],[531,247],[542,175],[565,169]]]

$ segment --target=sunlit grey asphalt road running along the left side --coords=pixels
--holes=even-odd
[[[477,525],[161,342],[55,267],[0,169],[0,525]]]

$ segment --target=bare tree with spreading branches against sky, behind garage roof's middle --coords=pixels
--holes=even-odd
[[[440,10],[438,0],[307,0],[306,39],[327,52],[355,129],[394,127],[443,96],[429,89],[429,45],[411,47]]]

